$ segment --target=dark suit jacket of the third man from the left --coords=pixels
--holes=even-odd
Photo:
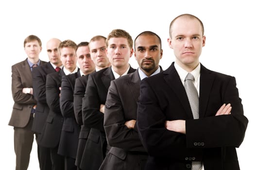
[[[55,148],[60,141],[63,116],[60,110],[61,78],[65,73],[63,69],[46,76],[46,102],[50,108],[49,115],[42,130],[39,144],[47,148]]]

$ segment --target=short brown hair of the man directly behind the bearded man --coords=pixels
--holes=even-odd
[[[132,36],[129,33],[127,33],[126,31],[121,30],[121,29],[112,30],[111,33],[108,34],[107,39],[106,39],[106,45],[108,46],[108,40],[110,38],[119,38],[119,37],[126,38],[127,41],[128,41],[129,47],[131,49],[133,48],[133,38],[132,38]]]

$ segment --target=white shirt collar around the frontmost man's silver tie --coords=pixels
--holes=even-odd
[[[188,74],[188,71],[186,71],[185,69],[181,68],[177,63],[174,63],[174,67],[175,69],[177,70],[179,76],[180,76],[180,79],[182,82],[185,81],[185,78]],[[199,75],[200,75],[200,69],[201,69],[201,64],[199,63],[199,65],[193,69],[193,71],[191,71],[190,73],[194,76],[195,78],[195,82],[198,81],[198,78],[199,78]]]

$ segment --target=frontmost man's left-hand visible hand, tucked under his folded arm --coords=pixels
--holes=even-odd
[[[185,120],[171,120],[171,121],[167,120],[165,121],[165,128],[170,131],[186,134],[186,121]]]

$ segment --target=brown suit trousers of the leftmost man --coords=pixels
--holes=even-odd
[[[34,141],[32,132],[33,117],[23,127],[14,127],[14,150],[16,154],[16,170],[27,170],[29,166],[30,153]]]

